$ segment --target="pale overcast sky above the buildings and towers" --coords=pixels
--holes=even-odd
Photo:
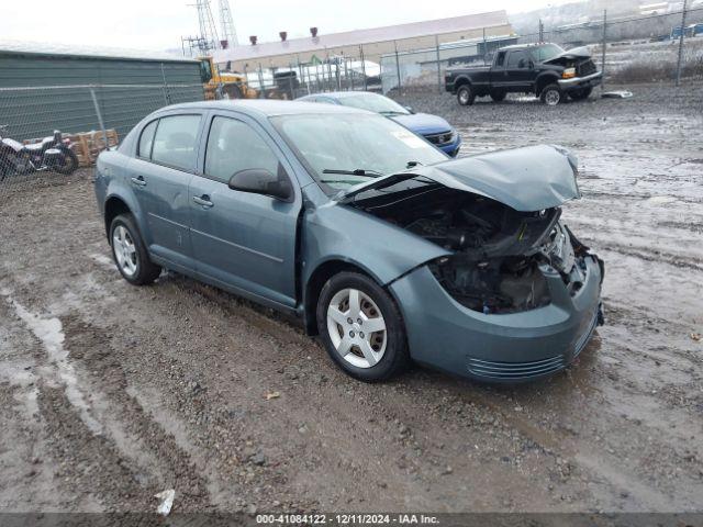
[[[0,40],[38,41],[164,51],[180,47],[180,37],[198,33],[194,0],[0,0]],[[211,0],[219,25],[219,0]],[[239,43],[376,27],[505,9],[529,11],[565,0],[230,0]],[[217,27],[217,31],[219,27]]]

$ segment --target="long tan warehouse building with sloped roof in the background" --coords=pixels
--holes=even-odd
[[[327,35],[311,29],[311,36],[304,38],[287,40],[286,32],[281,32],[280,42],[236,46],[215,53],[214,58],[217,64],[230,64],[237,71],[314,64],[335,55],[370,58],[379,63],[381,56],[395,52],[434,48],[448,42],[512,33],[506,12],[494,11]]]

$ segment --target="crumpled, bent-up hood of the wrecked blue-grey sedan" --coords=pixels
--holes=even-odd
[[[445,187],[499,201],[516,211],[560,206],[581,193],[578,161],[558,146],[539,145],[443,161],[357,184],[335,197],[348,202],[359,192],[386,188],[403,179],[424,177]]]

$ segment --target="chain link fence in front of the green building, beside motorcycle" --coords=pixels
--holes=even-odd
[[[48,148],[70,145],[78,167],[89,167],[150,112],[203,99],[202,85],[0,88],[0,203],[18,186],[60,180]]]

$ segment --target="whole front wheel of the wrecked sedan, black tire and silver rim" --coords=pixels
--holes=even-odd
[[[384,381],[410,361],[395,302],[365,274],[332,277],[320,293],[316,319],[327,354],[355,379]]]

